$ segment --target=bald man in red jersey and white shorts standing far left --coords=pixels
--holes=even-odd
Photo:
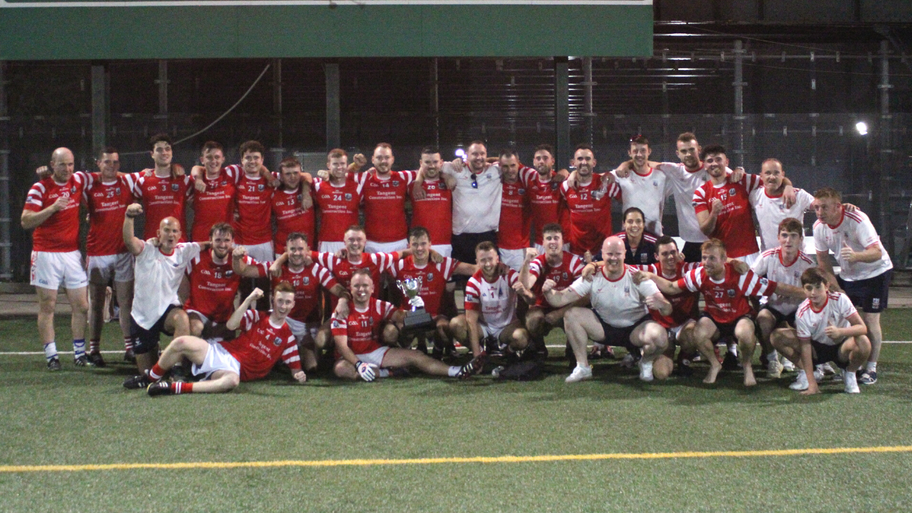
[[[32,185],[26,195],[21,223],[32,233],[31,284],[38,297],[38,336],[45,347],[48,371],[60,370],[54,334],[57,289],[67,290],[72,317],[73,353],[78,367],[88,365],[86,322],[88,277],[79,254],[79,203],[86,186],[73,173],[73,152],[57,148],[51,154],[51,175]]]

